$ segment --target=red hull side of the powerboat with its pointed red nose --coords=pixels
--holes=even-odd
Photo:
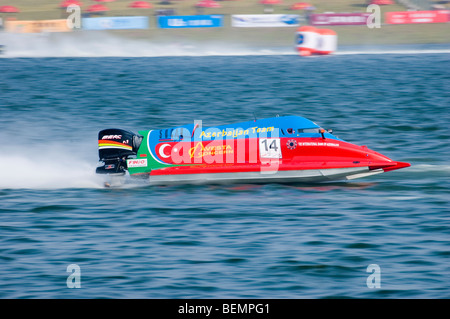
[[[242,149],[246,150],[244,156],[238,152],[230,152],[222,156],[211,154],[211,152],[199,152],[199,156],[195,158],[197,155],[195,149],[208,149],[210,144],[198,142],[201,144],[190,143],[189,147],[184,147],[178,143],[179,149],[191,150],[190,162],[186,160],[185,165],[182,166],[153,170],[150,173],[150,181],[153,183],[250,180],[252,182],[332,181],[354,179],[410,166],[409,163],[394,162],[365,146],[357,146],[341,140],[281,138],[280,141],[282,158],[261,160],[255,157],[254,163],[249,163],[251,154],[252,152],[258,154],[260,150],[257,147],[257,141],[252,142],[250,139],[245,145],[243,144]],[[233,140],[229,142],[229,147],[221,144],[221,149],[238,149],[232,143]],[[239,162],[239,158],[242,162]]]

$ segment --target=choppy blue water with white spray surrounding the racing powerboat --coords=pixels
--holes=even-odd
[[[1,298],[450,298],[448,53],[0,70]],[[305,116],[412,167],[324,185],[103,189],[94,174],[101,129],[253,113]]]

